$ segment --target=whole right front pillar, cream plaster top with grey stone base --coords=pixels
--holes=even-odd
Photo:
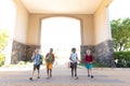
[[[94,55],[99,62],[113,67],[114,51],[107,12],[110,2],[104,0],[94,13]]]

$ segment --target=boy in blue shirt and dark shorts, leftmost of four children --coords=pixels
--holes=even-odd
[[[42,57],[39,54],[39,49],[35,49],[35,53],[32,54],[31,59],[34,60],[34,70],[32,70],[31,77],[29,77],[30,81],[32,81],[32,76],[34,76],[34,73],[35,73],[36,69],[38,70],[37,78],[40,78],[39,73],[40,73],[40,64],[41,64],[41,61],[42,61]]]

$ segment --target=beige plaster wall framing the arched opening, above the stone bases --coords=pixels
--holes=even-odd
[[[81,45],[93,45],[93,15],[51,15],[51,14],[30,14],[28,31],[27,31],[27,44],[40,45],[40,26],[41,19],[54,16],[74,17],[81,22]],[[34,37],[35,34],[35,37]]]

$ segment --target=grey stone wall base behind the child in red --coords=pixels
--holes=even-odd
[[[114,66],[114,51],[112,40],[107,40],[98,45],[81,45],[81,59],[83,59],[87,48],[92,51],[92,56],[98,62],[109,67]]]

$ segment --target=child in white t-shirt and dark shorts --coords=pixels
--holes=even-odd
[[[75,71],[75,77],[78,78],[78,76],[77,76],[78,55],[76,53],[75,47],[72,48],[72,54],[70,54],[69,60],[70,60],[72,77],[74,77],[74,71]]]

